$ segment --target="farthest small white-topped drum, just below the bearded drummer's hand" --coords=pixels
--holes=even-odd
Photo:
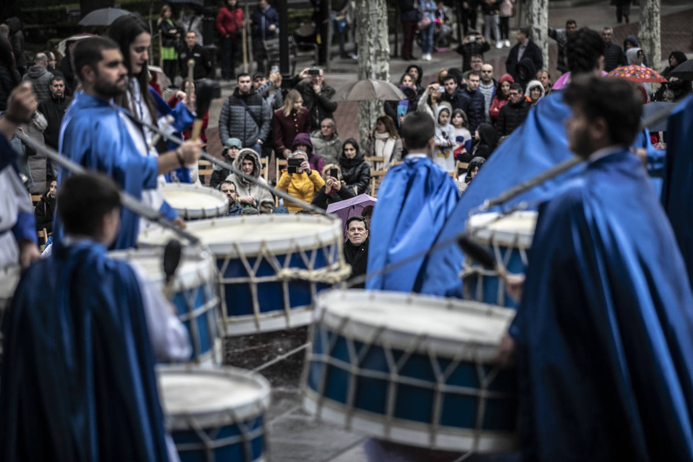
[[[166,183],[161,187],[161,193],[183,220],[223,217],[229,212],[229,198],[207,186]]]

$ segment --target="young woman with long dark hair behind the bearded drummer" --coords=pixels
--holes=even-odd
[[[169,132],[182,132],[193,123],[195,112],[195,92],[187,91],[185,98],[180,101],[174,109],[170,109],[157,92],[149,86],[149,69],[147,62],[149,59],[148,49],[152,36],[149,28],[134,15],[121,16],[109,26],[107,36],[110,37],[121,48],[123,53],[123,64],[128,69],[127,83],[128,89],[122,96],[114,98],[117,105],[128,109],[139,120],[152,125],[168,125]],[[168,123],[168,116],[173,117],[173,122]],[[163,121],[161,119],[164,119]],[[134,141],[139,152],[144,156],[158,156],[159,150],[153,143],[155,133],[149,128],[139,123],[135,123],[130,118],[126,118],[128,132]],[[166,130],[166,129],[164,129]],[[177,133],[177,136],[180,136]],[[175,150],[177,146],[167,143],[167,150]],[[191,170],[193,175],[191,175]],[[168,175],[175,175],[183,183],[197,180],[197,165],[190,166],[190,169],[177,168]],[[159,183],[164,183],[166,177],[159,176]],[[176,220],[180,224],[183,221],[178,214],[171,208],[164,196],[158,189],[143,190],[143,201],[164,213],[168,220]]]

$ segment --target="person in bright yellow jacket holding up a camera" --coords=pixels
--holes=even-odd
[[[281,175],[277,181],[277,189],[286,191],[292,197],[301,199],[303,202],[313,202],[315,193],[325,186],[325,181],[320,177],[317,170],[310,169],[308,154],[304,151],[294,151],[289,155],[286,168],[281,170]],[[295,202],[286,201],[284,204],[289,209],[289,213],[296,213],[304,210]]]

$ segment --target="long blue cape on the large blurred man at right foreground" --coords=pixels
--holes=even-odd
[[[693,296],[633,154],[541,206],[510,332],[526,460],[693,460]]]

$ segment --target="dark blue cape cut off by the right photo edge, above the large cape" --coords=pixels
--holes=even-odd
[[[674,228],[678,247],[693,286],[693,95],[685,98],[672,115],[667,129],[662,204]]]

